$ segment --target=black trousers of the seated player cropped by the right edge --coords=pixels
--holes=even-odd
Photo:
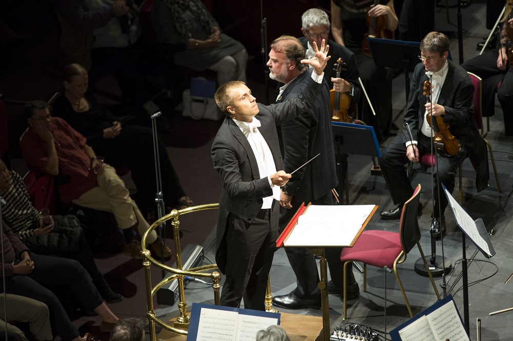
[[[497,68],[497,50],[488,51],[480,56],[464,62],[461,67],[475,73],[483,79],[483,116],[493,116],[495,113],[495,93],[502,106],[504,115],[504,134],[513,136],[513,68],[501,71]],[[499,82],[501,86],[497,88]]]

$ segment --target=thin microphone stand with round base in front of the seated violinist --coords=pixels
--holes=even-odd
[[[432,77],[433,77],[433,73],[432,72],[429,72],[429,83],[432,84]],[[429,92],[430,92],[430,95],[432,95],[431,93],[431,89],[429,89]],[[430,104],[431,104],[431,112],[432,112],[432,105],[433,105],[433,102],[432,100],[430,99],[429,100]],[[430,117],[430,120],[431,120],[431,134],[433,132],[433,124],[435,124],[435,122],[433,122],[433,116],[431,115]],[[447,284],[445,282],[445,275],[448,274],[451,269],[452,269],[452,264],[450,262],[449,259],[445,258],[444,257],[444,239],[443,239],[443,224],[444,224],[444,220],[443,220],[443,217],[442,217],[442,205],[440,203],[440,177],[438,176],[440,174],[439,172],[439,168],[438,168],[438,152],[435,150],[435,144],[434,143],[431,143],[431,155],[435,155],[435,166],[431,166],[431,179],[434,179],[435,178],[435,168],[434,167],[437,167],[437,198],[438,198],[438,207],[435,207],[435,184],[433,183],[433,181],[431,180],[431,194],[432,194],[432,198],[433,198],[433,206],[432,206],[432,212],[433,212],[433,216],[431,217],[432,220],[433,220],[433,224],[431,224],[431,227],[429,228],[429,233],[431,235],[431,258],[429,259],[429,263],[431,264],[431,266],[429,267],[429,271],[431,272],[431,275],[433,277],[440,277],[442,276],[442,280],[443,280],[443,283],[442,283],[442,288],[443,288],[443,291],[444,291],[444,297],[447,295],[447,291],[446,291],[446,288],[447,288]],[[420,160],[419,160],[420,161]],[[442,255],[437,255],[437,239],[436,239],[436,231],[435,231],[435,224],[434,224],[434,221],[435,221],[435,209],[438,208],[438,212],[439,212],[439,219],[440,219],[440,233],[442,235]],[[421,258],[419,258],[416,262],[415,262],[415,272],[417,272],[418,274],[422,275],[422,276],[428,276],[428,273],[427,273],[427,270],[426,270],[426,266],[424,265],[424,260]]]

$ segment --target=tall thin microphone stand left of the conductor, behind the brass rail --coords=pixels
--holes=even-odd
[[[162,112],[157,112],[151,115],[151,132],[153,135],[153,155],[155,159],[155,179],[156,179],[156,194],[155,204],[157,205],[157,220],[161,219],[165,214],[164,206],[164,193],[162,191],[162,174],[160,167],[160,153],[159,153],[159,135],[157,135],[156,118],[161,116]],[[161,249],[161,263],[164,264],[164,242],[166,239],[166,223],[159,225],[159,238]],[[162,279],[164,279],[165,272],[162,270]]]

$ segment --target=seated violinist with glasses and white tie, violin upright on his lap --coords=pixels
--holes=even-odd
[[[378,159],[392,201],[397,205],[382,211],[380,215],[383,219],[401,217],[404,202],[413,195],[404,165],[408,161],[418,163],[423,154],[431,153],[433,142],[429,121],[431,116],[440,116],[444,123],[449,124],[450,133],[460,144],[460,151],[453,156],[437,151],[438,164],[433,170],[435,210],[431,229],[437,237],[441,237],[445,231],[444,210],[447,207],[447,198],[442,188],[440,198],[437,197],[438,182],[443,183],[452,193],[456,169],[468,156],[477,172],[476,184],[480,191],[488,185],[488,157],[486,145],[473,119],[474,87],[467,72],[447,59],[449,38],[443,33],[430,32],[422,39],[420,51],[419,57],[422,61],[413,71],[404,113],[404,123],[408,123],[411,137],[408,130],[403,129],[403,134],[394,139]],[[431,103],[428,103],[424,95],[423,86],[426,80],[430,80],[432,86]],[[419,213],[421,210],[422,207],[419,206]]]

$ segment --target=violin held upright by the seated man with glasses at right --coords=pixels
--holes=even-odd
[[[431,83],[429,80],[424,82],[424,96],[426,96],[427,103],[431,103]],[[441,116],[431,116],[428,120],[429,125],[433,130],[433,144],[435,147],[443,152],[445,155],[453,156],[460,151],[460,143],[449,132],[449,124],[445,123]]]

